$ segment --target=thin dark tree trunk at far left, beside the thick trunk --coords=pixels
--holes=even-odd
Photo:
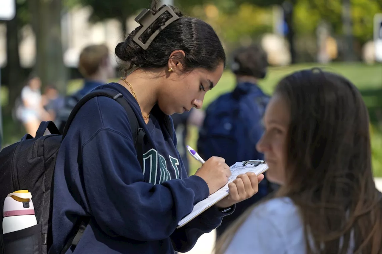
[[[16,98],[23,88],[23,70],[19,58],[19,27],[15,17],[6,22],[6,70],[8,72],[9,97],[8,105],[4,108],[5,115],[10,115],[15,106]]]

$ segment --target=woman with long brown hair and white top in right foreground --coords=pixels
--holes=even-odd
[[[226,231],[216,254],[382,253],[382,195],[358,89],[320,69],[298,71],[278,84],[264,124],[257,150],[282,187]]]

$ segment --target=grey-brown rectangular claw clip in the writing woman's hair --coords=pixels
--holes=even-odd
[[[172,18],[168,19],[166,23],[159,27],[157,31],[155,31],[149,39],[146,41],[146,43],[143,43],[139,40],[139,37],[146,31],[149,26],[151,26],[152,23],[154,23],[155,20],[159,18],[160,15],[168,11],[172,15]],[[155,37],[162,31],[166,26],[173,23],[176,19],[178,19],[178,15],[175,14],[175,12],[170,8],[170,6],[165,5],[160,11],[158,11],[155,15],[152,15],[150,10],[144,9],[139,13],[139,15],[134,19],[136,22],[142,25],[142,28],[139,29],[139,31],[134,35],[134,42],[136,42],[139,46],[141,46],[144,50],[147,50],[149,45],[151,44],[152,40],[154,40]]]

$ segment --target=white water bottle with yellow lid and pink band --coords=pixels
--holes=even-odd
[[[4,201],[3,234],[37,225],[32,194],[19,190],[6,196]]]

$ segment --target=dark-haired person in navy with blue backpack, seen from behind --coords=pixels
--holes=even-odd
[[[197,143],[197,151],[204,159],[219,156],[229,166],[237,161],[264,159],[255,146],[264,132],[262,117],[270,97],[262,92],[257,82],[266,76],[267,66],[267,55],[258,45],[239,48],[233,54],[231,71],[236,76],[237,85],[207,108]],[[272,190],[265,174],[265,179],[259,184],[259,192],[237,204],[235,212],[224,217],[217,228],[217,236]]]

